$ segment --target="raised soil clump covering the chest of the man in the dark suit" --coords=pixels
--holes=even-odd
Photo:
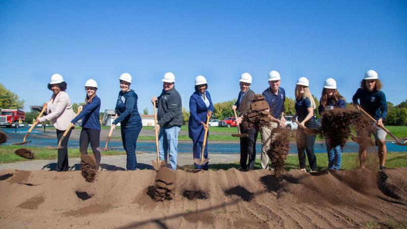
[[[255,128],[259,129],[260,127],[269,127],[270,122],[270,106],[267,104],[264,97],[260,94],[253,96],[248,106],[247,112],[243,116],[242,126],[247,127],[248,129]]]

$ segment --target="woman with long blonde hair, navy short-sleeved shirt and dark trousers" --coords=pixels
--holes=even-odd
[[[295,89],[296,113],[292,120],[294,121],[294,119],[298,119],[301,126],[309,129],[317,129],[314,118],[315,101],[312,98],[308,86],[309,81],[307,78],[301,77],[297,80]],[[305,152],[307,153],[308,163],[311,171],[316,170],[316,157],[314,154],[315,138],[316,136],[306,134],[302,128],[297,129],[296,141],[298,160],[300,163],[300,169],[305,172],[307,171],[305,169]]]

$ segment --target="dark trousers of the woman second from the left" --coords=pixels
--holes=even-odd
[[[99,137],[100,130],[82,128],[79,136],[79,151],[81,154],[88,154],[89,142],[91,142],[91,147],[93,154],[96,159],[96,167],[99,167],[100,164],[100,152],[96,149],[99,147]]]

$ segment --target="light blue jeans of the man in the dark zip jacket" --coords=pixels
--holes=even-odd
[[[178,133],[181,127],[161,127],[158,133],[158,150],[161,160],[167,160],[169,153],[169,164],[171,170],[177,170]]]

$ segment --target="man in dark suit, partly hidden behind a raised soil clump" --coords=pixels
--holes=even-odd
[[[232,105],[233,110],[239,111],[237,123],[242,123],[243,115],[247,112],[250,102],[254,96],[254,92],[250,90],[252,77],[249,73],[243,73],[240,76],[240,92],[235,105]],[[255,128],[240,126],[242,133],[249,134],[247,137],[240,138],[240,167],[239,170],[247,171],[254,169],[254,160],[256,159],[256,139],[258,132]],[[249,159],[249,161],[247,161]]]

